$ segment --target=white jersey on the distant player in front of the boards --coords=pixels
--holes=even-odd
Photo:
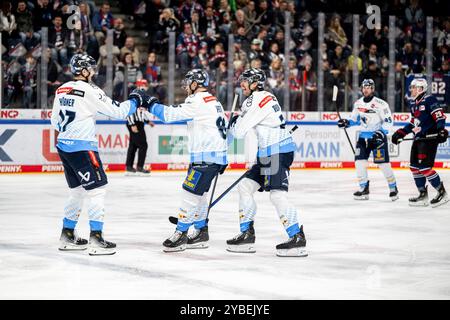
[[[386,101],[373,97],[364,102],[364,97],[356,100],[350,117],[350,126],[360,125],[359,137],[369,139],[375,131],[389,134],[392,131],[393,119],[391,109]]]

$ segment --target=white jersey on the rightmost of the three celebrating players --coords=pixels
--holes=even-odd
[[[258,157],[295,151],[291,134],[275,96],[255,91],[242,103],[242,114],[231,129],[236,138],[243,138],[251,129],[258,139]]]

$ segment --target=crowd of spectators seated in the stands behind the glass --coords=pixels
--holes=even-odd
[[[430,0],[431,1],[431,0]],[[379,2],[379,3],[377,3]],[[439,0],[431,2],[438,3]],[[446,5],[445,1],[442,1]],[[49,86],[69,76],[67,63],[76,52],[87,52],[98,60],[100,86],[106,83],[107,30],[114,31],[114,97],[125,89],[146,82],[148,90],[161,100],[167,97],[159,59],[167,56],[169,33],[176,32],[177,75],[191,68],[203,68],[211,76],[211,88],[226,103],[228,85],[228,36],[234,35],[234,83],[247,67],[259,67],[267,74],[267,86],[284,105],[285,76],[289,75],[290,109],[317,110],[318,90],[318,13],[325,12],[325,37],[321,57],[324,71],[324,100],[331,99],[331,88],[352,90],[354,60],[358,83],[371,78],[379,96],[387,99],[388,16],[396,16],[395,85],[396,105],[401,110],[405,93],[404,78],[425,72],[426,16],[433,15],[433,71],[448,73],[450,18],[440,17],[429,4],[419,0],[374,1],[381,7],[381,25],[369,28],[366,4],[356,0],[132,0],[113,5],[147,31],[149,48],[140,52],[136,39],[127,35],[124,21],[111,14],[105,2],[92,1],[4,1],[1,11],[2,45],[6,97],[8,103],[19,91],[23,106],[33,107],[37,64],[40,59],[40,30],[49,28],[46,59],[56,70]],[[67,8],[80,6],[81,19],[72,28]],[[290,13],[291,38],[285,43],[285,13]],[[336,13],[339,12],[339,13]],[[360,14],[360,54],[353,56],[353,14]],[[443,14],[443,12],[441,13]],[[289,56],[285,56],[285,47]],[[289,70],[285,72],[285,67]],[[50,74],[49,74],[50,75]],[[51,78],[51,80],[50,80]],[[53,80],[53,82],[52,82]],[[235,90],[239,93],[239,88]],[[50,96],[51,96],[51,89]],[[344,100],[343,94],[339,99]],[[329,104],[325,104],[328,108]]]

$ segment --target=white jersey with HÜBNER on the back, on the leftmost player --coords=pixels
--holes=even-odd
[[[65,152],[98,151],[95,136],[97,113],[125,119],[136,111],[137,103],[122,103],[107,97],[102,89],[84,81],[69,81],[56,90],[51,123],[59,131],[57,147]]]

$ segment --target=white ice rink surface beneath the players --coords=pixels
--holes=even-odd
[[[210,248],[163,253],[183,172],[109,173],[104,231],[117,253],[60,252],[63,174],[0,175],[0,299],[449,299],[450,203],[410,208],[411,174],[395,173],[398,201],[371,170],[371,199],[358,202],[353,170],[294,170],[289,195],[307,258],[275,256],[287,236],[264,193],[256,195],[257,252],[227,252],[239,231],[236,191],[211,211]],[[439,173],[450,189],[450,171]],[[220,176],[216,194],[241,174]],[[85,212],[78,226],[87,237]]]

